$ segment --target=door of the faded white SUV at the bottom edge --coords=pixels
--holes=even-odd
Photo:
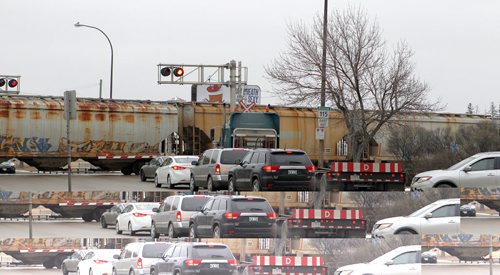
[[[392,259],[381,274],[384,275],[420,275],[420,251],[408,251]]]

